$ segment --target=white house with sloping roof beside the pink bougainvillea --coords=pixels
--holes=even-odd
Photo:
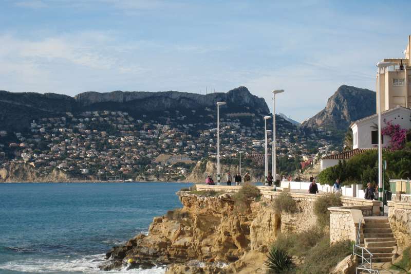
[[[381,127],[387,126],[386,122],[400,125],[401,129],[411,129],[411,109],[402,106],[388,109],[381,113]],[[378,145],[378,115],[371,115],[361,120],[352,122],[352,148],[371,149]],[[383,136],[383,148],[389,145],[390,137]]]

